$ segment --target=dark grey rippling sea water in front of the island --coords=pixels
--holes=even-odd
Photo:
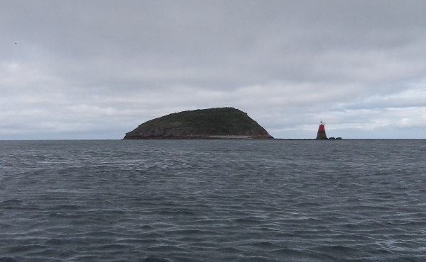
[[[426,261],[426,140],[0,141],[0,261]]]

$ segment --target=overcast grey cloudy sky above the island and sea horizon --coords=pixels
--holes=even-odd
[[[426,1],[0,1],[0,140],[203,108],[275,138],[426,139]]]

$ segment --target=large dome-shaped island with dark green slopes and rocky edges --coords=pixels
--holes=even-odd
[[[235,108],[190,110],[149,120],[124,139],[273,139],[249,115]]]

